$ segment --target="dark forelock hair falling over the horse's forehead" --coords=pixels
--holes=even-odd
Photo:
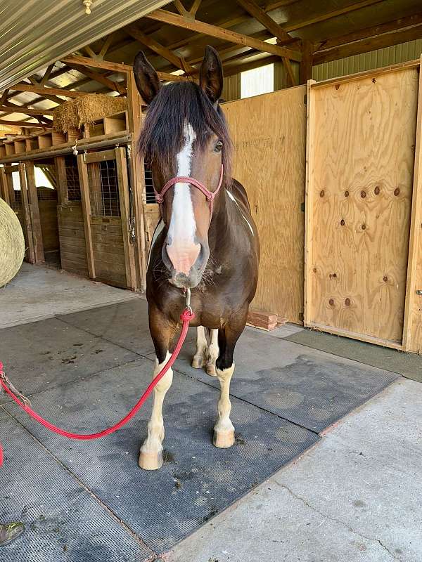
[[[145,161],[153,159],[160,169],[170,168],[172,158],[181,150],[185,121],[196,132],[196,142],[205,147],[210,133],[223,143],[222,162],[224,185],[231,182],[231,140],[221,108],[217,110],[200,89],[191,81],[173,82],[163,86],[146,112],[138,149]]]

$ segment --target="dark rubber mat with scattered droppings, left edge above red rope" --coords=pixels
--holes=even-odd
[[[16,388],[30,395],[89,377],[138,356],[82,329],[50,318],[2,329],[0,358]],[[0,392],[0,403],[9,400],[5,393]]]

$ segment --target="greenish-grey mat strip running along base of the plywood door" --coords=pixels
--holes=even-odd
[[[422,382],[422,357],[417,353],[403,353],[397,349],[367,344],[342,336],[323,334],[316,330],[304,329],[298,334],[291,334],[286,339],[296,344],[327,351],[340,357],[354,359],[402,374],[407,379]]]

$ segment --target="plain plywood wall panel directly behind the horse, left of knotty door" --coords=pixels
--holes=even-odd
[[[303,321],[306,86],[225,103],[234,178],[243,183],[261,242],[252,308]]]

